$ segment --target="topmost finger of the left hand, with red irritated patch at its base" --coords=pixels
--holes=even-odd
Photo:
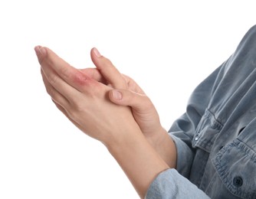
[[[51,80],[57,80],[57,83],[61,83],[61,80],[58,79],[62,79],[62,83],[66,82],[75,89],[84,91],[84,85],[87,84],[88,81],[90,82],[90,77],[82,73],[80,70],[71,67],[70,64],[67,64],[67,62],[61,59],[61,57],[58,57],[57,54],[54,54],[54,52],[48,47],[38,46],[35,47],[34,50],[38,55],[38,61],[44,70],[45,76],[48,77],[48,80],[49,77],[51,77],[53,78]],[[48,73],[50,71],[48,70],[49,67],[51,67],[59,77],[53,76],[53,73]]]

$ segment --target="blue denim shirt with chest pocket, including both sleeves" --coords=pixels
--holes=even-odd
[[[146,198],[256,198],[256,26],[173,123],[177,167]]]

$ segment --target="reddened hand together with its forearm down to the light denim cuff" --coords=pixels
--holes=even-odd
[[[57,108],[75,126],[107,146],[139,196],[145,197],[149,184],[169,166],[146,141],[130,107],[111,103],[110,86],[71,67],[47,47],[35,47],[35,51],[44,85]],[[97,56],[97,51],[94,54]]]

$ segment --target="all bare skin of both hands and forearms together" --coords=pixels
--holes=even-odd
[[[150,100],[146,100],[150,109],[147,114],[147,111],[143,112],[145,106],[140,105],[140,99],[144,99],[145,95],[133,92],[142,90],[133,81],[127,83],[127,78],[95,48],[91,57],[97,70],[77,70],[48,47],[38,46],[34,50],[41,64],[45,88],[57,108],[81,131],[106,145],[139,197],[145,197],[153,179],[169,168],[166,152],[162,152],[165,151],[163,145],[171,143],[172,152],[169,155],[172,158],[168,161],[176,165],[175,145],[169,142],[171,139],[156,147],[166,133],[162,127],[151,126],[150,120],[147,120],[158,117]],[[139,95],[144,98],[136,98]],[[159,133],[150,131],[151,127]],[[153,144],[154,140],[156,144]]]

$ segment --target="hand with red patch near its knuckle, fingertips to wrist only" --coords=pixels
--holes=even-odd
[[[48,94],[79,129],[106,145],[139,129],[129,107],[110,102],[110,86],[71,67],[47,47],[35,47],[35,51]]]

